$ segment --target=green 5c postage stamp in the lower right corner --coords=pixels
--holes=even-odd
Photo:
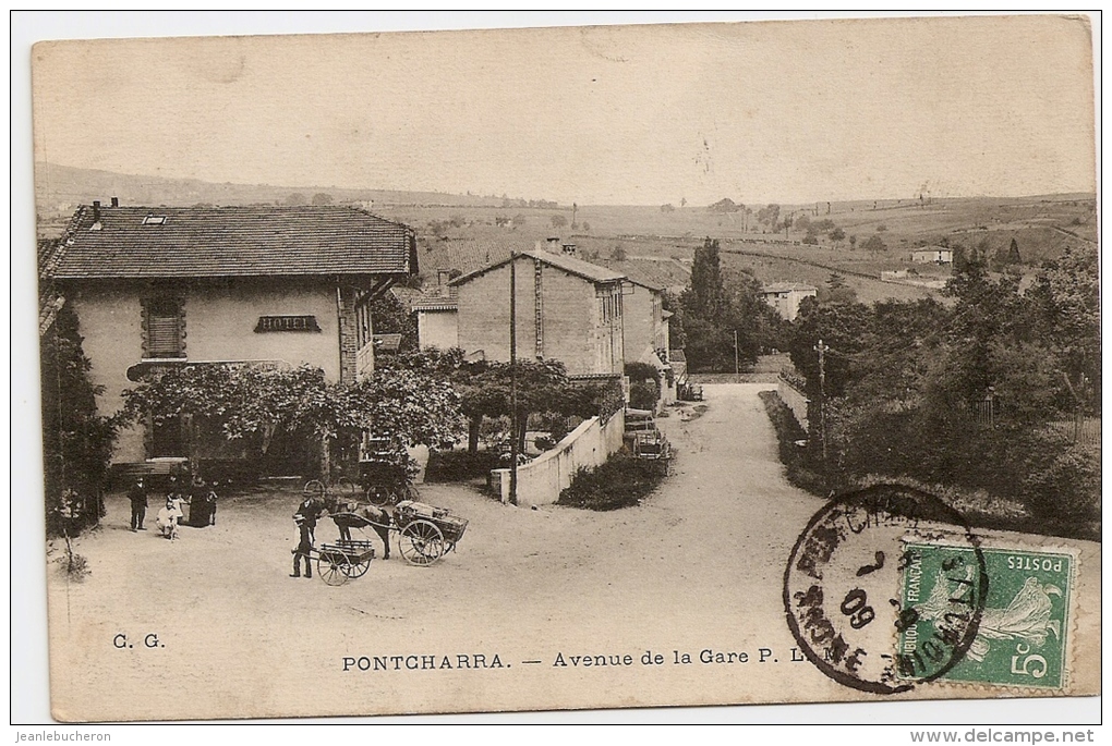
[[[920,678],[953,619],[971,608],[969,546],[909,543],[901,579],[896,669]],[[937,678],[1056,689],[1066,682],[1066,635],[1075,557],[1061,552],[981,548],[987,577],[976,634]]]

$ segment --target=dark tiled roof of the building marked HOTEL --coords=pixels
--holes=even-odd
[[[100,208],[99,225],[95,224],[92,208],[78,209],[62,239],[52,276],[417,272],[413,231],[354,208],[109,206]]]

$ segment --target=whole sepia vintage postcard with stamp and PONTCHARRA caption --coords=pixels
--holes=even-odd
[[[1064,14],[37,43],[53,718],[1099,696],[1092,65]]]

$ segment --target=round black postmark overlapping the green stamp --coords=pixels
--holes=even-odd
[[[909,605],[906,584],[900,595],[902,578],[921,567],[907,571],[909,536],[953,543],[932,554],[932,561],[944,554],[935,564],[947,585],[940,584],[946,595],[929,618]],[[920,576],[915,582],[919,593]],[[815,514],[788,561],[784,607],[801,649],[822,673],[862,692],[897,694],[961,664],[977,641],[987,589],[980,540],[962,516],[929,493],[885,484],[843,495]],[[921,644],[901,655],[897,629],[910,633],[898,641],[901,651],[920,633]]]

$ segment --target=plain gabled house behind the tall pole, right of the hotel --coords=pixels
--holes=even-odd
[[[625,275],[576,258],[570,244],[548,244],[558,249],[522,252],[451,281],[458,346],[487,360],[509,360],[513,262],[518,357],[558,360],[575,376],[620,375]]]

